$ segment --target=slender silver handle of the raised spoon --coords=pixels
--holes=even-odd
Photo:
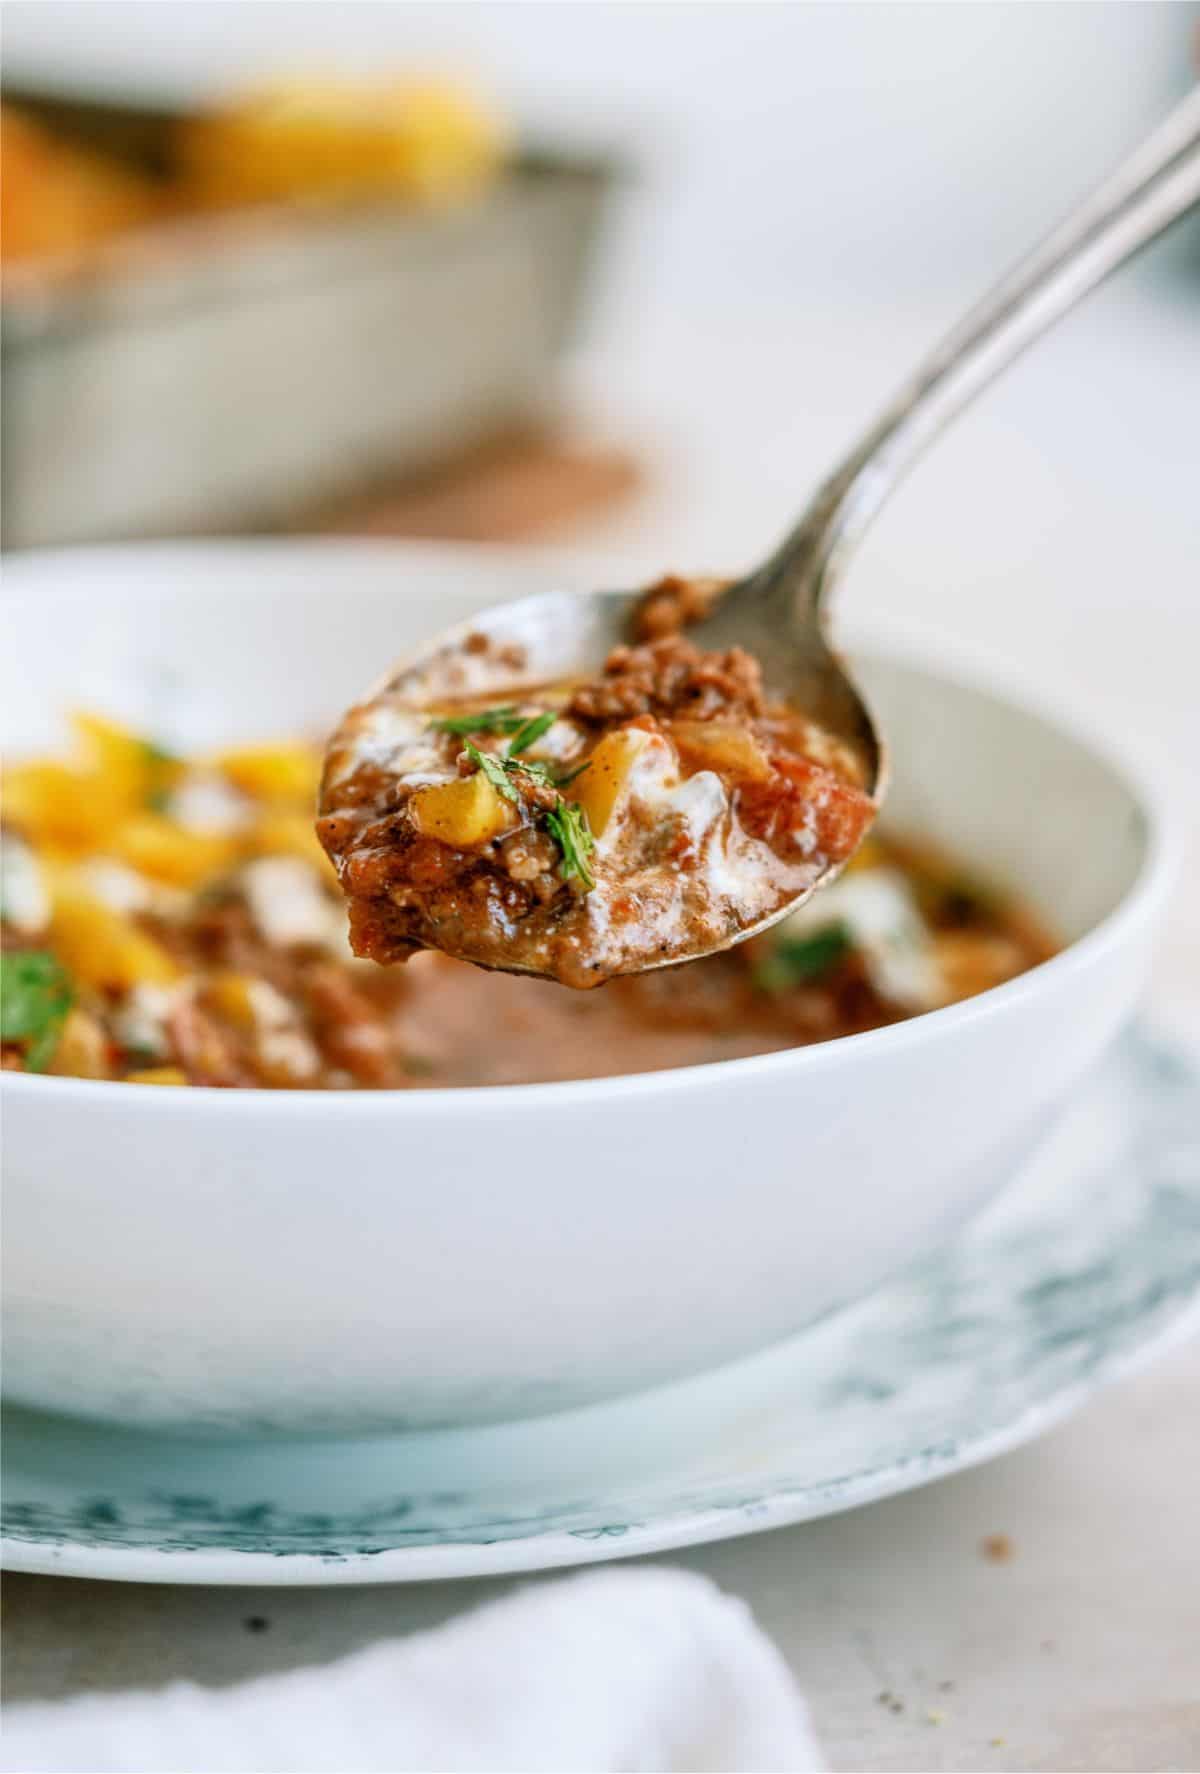
[[[928,444],[1088,291],[1200,204],[1200,87],[948,334],[747,589],[822,605],[879,507]]]

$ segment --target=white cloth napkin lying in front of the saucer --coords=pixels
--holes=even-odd
[[[646,1566],[517,1591],[435,1632],[231,1689],[12,1707],[9,1774],[818,1770],[749,1609]]]

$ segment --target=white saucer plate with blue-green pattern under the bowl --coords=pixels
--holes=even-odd
[[[1196,1325],[1200,1071],[1134,1031],[996,1206],[779,1348],[557,1417],[369,1440],[195,1442],[14,1409],[4,1563],[348,1584],[662,1552],[962,1471]]]

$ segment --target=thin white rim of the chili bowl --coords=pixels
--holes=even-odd
[[[414,561],[449,564],[454,557],[470,559],[472,566],[488,559],[504,559],[509,566],[520,561],[536,564],[538,571],[557,568],[570,580],[579,584],[628,585],[646,578],[644,561],[621,555],[616,550],[595,548],[554,548],[540,545],[513,543],[438,543],[438,541],[403,541],[378,538],[211,538],[179,539],[151,543],[115,543],[87,545],[75,548],[18,550],[9,555],[9,566],[18,568],[18,577],[28,568],[36,578],[53,580],[57,569],[67,568],[82,577],[87,564],[101,559],[110,568],[119,568],[122,561],[146,562],[154,555],[186,553],[193,561],[208,561],[213,568],[227,562],[231,553],[256,553],[259,559],[270,555],[280,562],[291,559],[311,559],[318,553],[341,553],[353,575],[353,566],[367,559]],[[41,584],[37,596],[83,596],[83,584]],[[231,594],[233,594],[233,587]],[[14,600],[21,587],[5,591],[5,598]],[[339,582],[341,593],[353,596],[353,587],[346,580]],[[403,598],[398,587],[398,598]],[[1157,765],[1147,749],[1140,745],[1122,745],[1117,750],[1108,727],[1093,710],[1083,710],[1070,694],[1058,690],[1049,695],[1044,688],[1030,683],[1014,663],[998,663],[994,656],[983,655],[982,648],[960,640],[936,640],[927,632],[916,635],[911,628],[895,623],[847,623],[847,633],[840,637],[849,651],[863,651],[877,656],[884,665],[896,663],[900,669],[927,672],[948,679],[960,688],[992,697],[1019,715],[1040,720],[1044,726],[1072,740],[1083,750],[1099,759],[1115,777],[1138,809],[1141,821],[1141,860],[1129,887],[1117,905],[1095,922],[1088,931],[1069,942],[1046,962],[1008,979],[987,992],[964,999],[959,1004],[946,1004],[941,1009],[921,1011],[904,1022],[889,1024],[882,1029],[866,1029],[857,1034],[834,1036],[827,1041],[813,1041],[806,1047],[781,1048],[770,1054],[751,1054],[737,1059],[710,1059],[691,1066],[675,1066],[664,1071],[628,1071],[600,1079],[557,1079],[534,1084],[463,1084],[463,1086],[414,1086],[396,1091],[318,1091],[318,1089],[218,1089],[215,1086],[167,1084],[153,1089],[131,1089],[119,1079],[59,1079],[25,1071],[0,1073],[0,1095],[14,1102],[28,1098],[44,1100],[46,1107],[69,1103],[112,1103],[114,1091],[121,1091],[121,1102],[130,1102],[133,1114],[176,1114],[181,1102],[193,1112],[215,1112],[225,1116],[256,1114],[268,1109],[284,1116],[334,1114],[334,1116],[391,1116],[398,1102],[405,1103],[405,1112],[481,1112],[497,1111],[504,1103],[515,1102],[536,1111],[540,1103],[547,1107],[600,1107],[627,1098],[664,1093],[667,1096],[687,1095],[689,1091],[712,1087],[717,1080],[746,1080],[749,1086],[758,1079],[770,1079],[788,1071],[820,1071],[829,1066],[852,1064],[857,1054],[877,1054],[905,1050],[943,1036],[950,1041],[960,1031],[978,1022],[991,1022],[1010,1009],[1019,1009],[1031,997],[1058,983],[1069,985],[1074,974],[1102,962],[1104,954],[1118,949],[1127,931],[1143,919],[1154,917],[1163,907],[1175,880],[1182,859],[1182,818],[1175,812],[1172,797],[1164,786],[1163,766]],[[133,1103],[138,1103],[133,1109]],[[215,1107],[220,1103],[222,1107]]]

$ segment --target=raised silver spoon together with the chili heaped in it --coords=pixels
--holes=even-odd
[[[481,612],[341,722],[318,834],[359,954],[572,986],[694,960],[836,876],[886,788],[831,594],[893,486],[1028,344],[1200,202],[1200,89],[916,371],[769,561]]]

